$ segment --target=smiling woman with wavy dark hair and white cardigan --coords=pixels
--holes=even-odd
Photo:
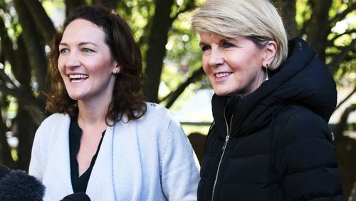
[[[142,58],[127,23],[81,6],[53,40],[46,118],[29,174],[44,200],[196,200],[199,163],[171,113],[141,96]]]

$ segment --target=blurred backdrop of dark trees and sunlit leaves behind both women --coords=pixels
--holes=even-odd
[[[11,168],[28,168],[35,130],[48,115],[43,96],[48,87],[46,54],[53,34],[61,29],[54,20],[58,11],[66,15],[81,4],[104,4],[117,10],[132,27],[142,50],[143,93],[147,100],[169,108],[177,98],[209,87],[201,68],[199,41],[189,25],[193,9],[204,1],[0,0],[0,163]],[[356,3],[350,0],[273,0],[273,3],[280,8],[290,38],[305,38],[328,63],[338,86],[355,88]],[[355,107],[349,107],[345,114],[350,110]],[[345,137],[342,132],[346,127],[342,123],[340,120],[335,131],[338,139]],[[15,150],[7,143],[6,133],[19,139]],[[343,141],[335,140],[337,150],[345,150]],[[350,153],[340,151],[346,158]],[[347,173],[351,172],[342,173],[342,177],[347,177]],[[343,179],[347,196],[355,180]]]

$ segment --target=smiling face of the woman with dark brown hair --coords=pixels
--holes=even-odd
[[[119,71],[105,33],[85,19],[75,19],[63,32],[58,70],[73,100],[103,103],[112,98],[114,70]]]

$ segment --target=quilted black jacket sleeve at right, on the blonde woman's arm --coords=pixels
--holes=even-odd
[[[328,123],[310,110],[288,117],[279,133],[275,161],[286,200],[342,200]]]

